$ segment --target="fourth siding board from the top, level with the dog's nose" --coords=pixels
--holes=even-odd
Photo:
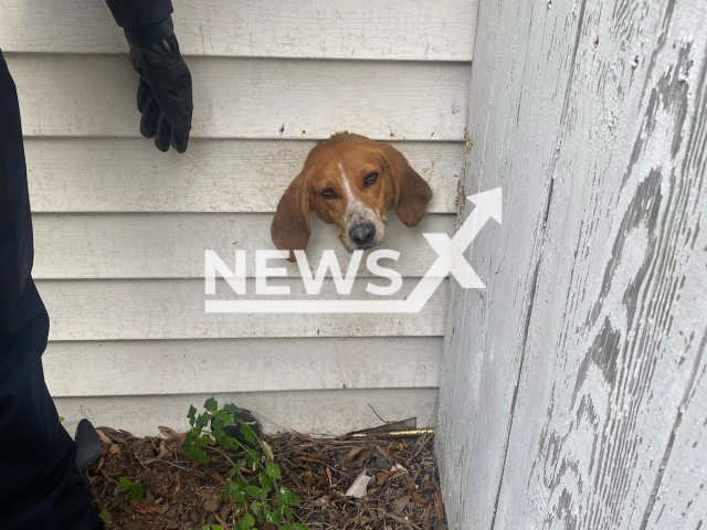
[[[255,251],[275,250],[270,213],[107,213],[35,214],[33,216],[35,278],[202,278],[204,253],[217,251],[235,271],[235,250],[245,250],[249,276],[255,275]],[[415,227],[405,226],[390,212],[388,240],[381,248],[400,252],[386,266],[402,276],[424,276],[437,257],[423,233],[452,235],[456,216],[429,214]],[[309,265],[316,269],[325,250],[334,250],[342,271],[350,259],[334,225],[312,215],[307,246]],[[368,273],[366,256],[360,276]],[[288,276],[299,277],[297,264],[282,261]],[[381,262],[382,264],[383,262]]]

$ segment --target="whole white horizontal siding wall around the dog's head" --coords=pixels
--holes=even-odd
[[[390,214],[398,296],[409,293],[435,258],[422,232],[456,221],[476,4],[176,1],[194,83],[180,156],[139,136],[137,76],[101,0],[2,2],[52,322],[44,367],[67,424],[181,428],[213,393],[271,431],[371,426],[371,407],[434,421],[449,282],[419,314],[211,315],[203,253],[273,248],[273,212],[307,152],[351,130],[393,142],[434,191],[420,226]],[[313,221],[313,266],[324,248],[345,261],[334,229]],[[304,292],[287,269],[279,282]],[[370,298],[369,280],[382,282],[361,274],[352,297]],[[323,296],[335,296],[328,279]]]

